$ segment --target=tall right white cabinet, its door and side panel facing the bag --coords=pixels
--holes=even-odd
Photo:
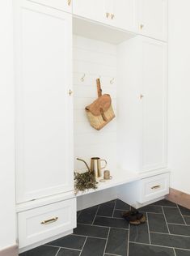
[[[119,47],[118,156],[123,169],[166,167],[167,45],[138,36]]]

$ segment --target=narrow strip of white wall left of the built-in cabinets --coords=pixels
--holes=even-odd
[[[15,244],[12,1],[0,1],[0,251]]]

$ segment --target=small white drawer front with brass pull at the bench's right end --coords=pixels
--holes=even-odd
[[[139,203],[146,203],[169,194],[169,173],[142,179],[140,182]]]

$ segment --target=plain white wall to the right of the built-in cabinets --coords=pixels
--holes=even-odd
[[[190,194],[190,1],[169,0],[168,160],[171,187]]]

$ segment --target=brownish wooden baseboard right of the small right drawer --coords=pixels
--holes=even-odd
[[[167,200],[177,203],[182,207],[190,209],[190,194],[170,188],[170,194],[166,196]]]

